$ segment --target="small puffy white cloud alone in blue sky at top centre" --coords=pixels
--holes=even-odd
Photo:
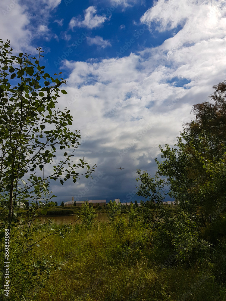
[[[97,28],[102,25],[102,23],[107,20],[106,16],[100,16],[96,14],[97,9],[95,6],[89,6],[86,8],[84,13],[84,20],[81,17],[73,17],[69,23],[69,27],[73,29],[74,27],[86,27],[89,29]]]

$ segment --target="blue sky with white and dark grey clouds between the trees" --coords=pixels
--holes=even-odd
[[[58,203],[144,200],[137,169],[155,174],[158,145],[173,147],[226,79],[225,0],[1,0],[0,16],[14,54],[42,47],[45,72],[67,78],[58,107],[80,130],[74,160],[97,165],[93,180],[52,182]]]

